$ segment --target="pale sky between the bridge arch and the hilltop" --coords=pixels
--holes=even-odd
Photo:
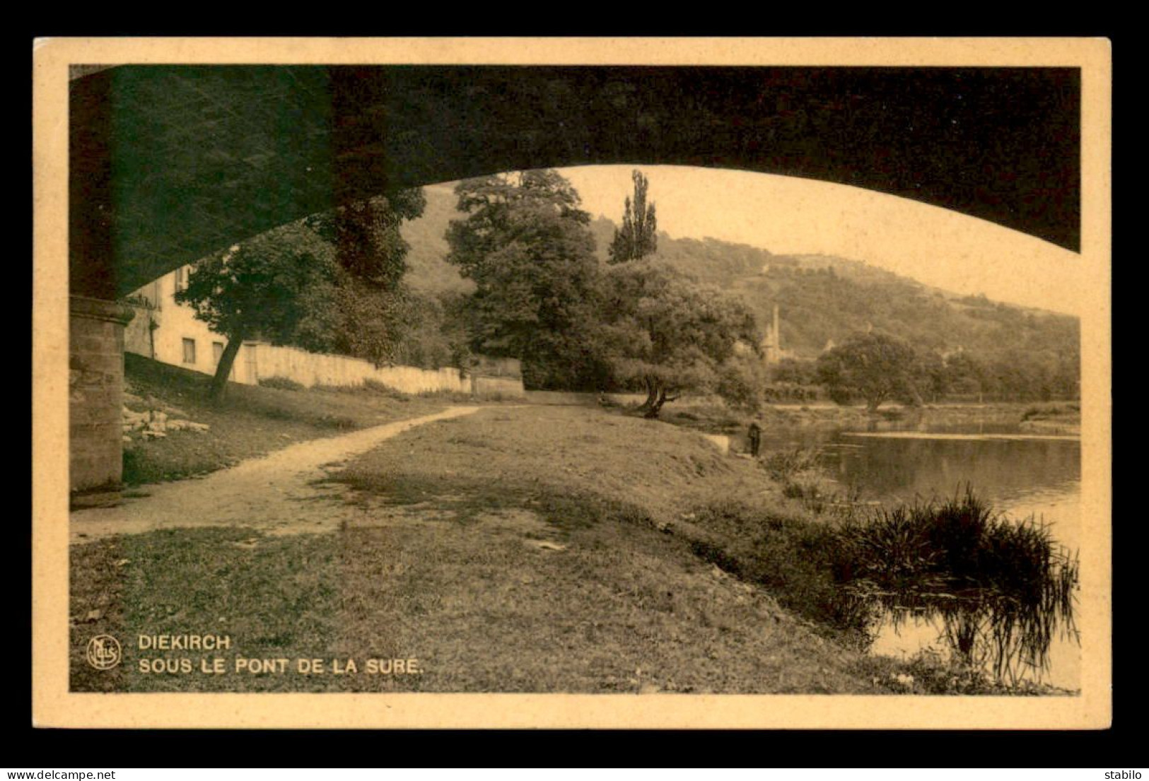
[[[560,169],[593,216],[622,221],[632,167]],[[956,211],[858,187],[748,171],[642,165],[658,229],[776,254],[839,255],[955,293],[1080,315],[1081,256]]]

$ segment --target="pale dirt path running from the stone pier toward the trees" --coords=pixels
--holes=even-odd
[[[74,543],[91,542],[113,534],[194,526],[250,526],[271,534],[338,528],[349,512],[344,502],[347,489],[338,484],[314,485],[317,480],[347,458],[409,428],[478,409],[449,407],[421,418],[292,444],[202,479],[142,486],[148,496],[125,498],[119,507],[71,512],[69,538]]]

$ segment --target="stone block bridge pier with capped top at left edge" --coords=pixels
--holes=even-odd
[[[113,301],[69,301],[68,413],[71,490],[118,487],[123,475],[124,325]]]

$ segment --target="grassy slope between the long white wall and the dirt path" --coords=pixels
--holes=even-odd
[[[180,480],[230,466],[244,458],[310,439],[416,417],[442,409],[441,403],[372,394],[313,388],[230,384],[221,403],[207,397],[207,374],[125,355],[129,402],[134,411],[161,408],[171,417],[210,426],[207,432],[169,432],[163,439],[132,434],[124,446],[123,481],[129,486]]]

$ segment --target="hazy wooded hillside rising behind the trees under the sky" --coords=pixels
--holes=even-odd
[[[455,196],[442,186],[427,188],[426,195],[424,216],[403,229],[411,243],[411,284],[424,292],[470,289],[470,283],[442,260],[444,232],[458,216]],[[615,223],[600,216],[591,230],[600,260],[606,261]],[[748,245],[672,239],[666,233],[660,234],[658,256],[700,281],[739,295],[762,326],[777,304],[782,348],[795,357],[812,358],[827,342],[841,342],[872,326],[942,353],[962,349],[1000,361],[1025,353],[1051,371],[1062,366],[1075,372],[1079,361],[1074,317],[927,287],[861,261],[776,255]]]

